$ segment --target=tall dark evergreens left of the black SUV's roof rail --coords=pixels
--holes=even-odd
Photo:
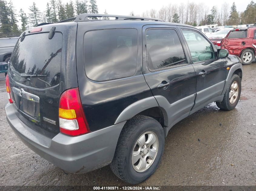
[[[40,23],[54,23],[76,17],[81,13],[98,13],[96,0],[71,0],[66,4],[63,4],[62,0],[50,0],[43,12],[33,2],[28,14],[22,9],[17,13],[12,0],[8,3],[0,0],[0,33],[22,32]],[[18,27],[18,20],[21,21],[21,27]]]

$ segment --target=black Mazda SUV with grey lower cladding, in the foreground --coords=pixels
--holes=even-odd
[[[22,33],[5,111],[17,136],[66,173],[110,164],[136,184],[156,170],[175,123],[211,102],[234,109],[241,78],[241,60],[192,26],[80,14]]]

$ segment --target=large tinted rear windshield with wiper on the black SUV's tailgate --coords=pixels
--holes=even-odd
[[[52,39],[49,33],[39,33],[25,36],[18,40],[12,59],[12,72],[15,81],[35,88],[47,88],[60,81],[62,34],[55,33]],[[11,67],[12,68],[12,67]],[[20,74],[44,75],[42,77],[21,77]]]

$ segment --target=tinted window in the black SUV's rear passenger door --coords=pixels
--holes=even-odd
[[[178,34],[173,29],[146,31],[147,59],[150,69],[160,69],[186,63]]]

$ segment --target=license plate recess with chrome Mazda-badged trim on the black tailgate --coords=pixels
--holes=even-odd
[[[12,92],[19,112],[33,121],[40,122],[39,97],[24,91],[22,88],[12,87]]]

